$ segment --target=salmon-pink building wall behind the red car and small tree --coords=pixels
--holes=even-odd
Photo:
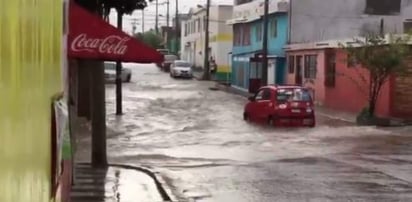
[[[349,68],[347,66],[346,53],[343,50],[336,51],[336,77],[335,86],[325,86],[325,50],[326,49],[314,49],[314,50],[293,50],[287,52],[289,56],[302,56],[302,74],[304,72],[304,56],[316,54],[317,57],[317,74],[316,79],[310,80],[303,78],[303,86],[314,90],[314,98],[316,104],[324,105],[326,107],[354,112],[360,112],[368,104],[367,96],[367,83],[363,82],[360,75],[365,78],[368,77],[366,70],[361,68]],[[296,64],[295,64],[296,65]],[[296,68],[295,68],[296,70]],[[287,71],[287,83],[296,84],[295,73],[289,73]],[[392,81],[392,79],[391,79]],[[391,116],[392,106],[392,82],[387,82],[379,96],[376,106],[376,114],[383,117]]]

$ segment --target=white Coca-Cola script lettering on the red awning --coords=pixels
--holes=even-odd
[[[99,53],[124,55],[127,51],[126,42],[129,40],[129,37],[120,37],[117,35],[110,35],[106,38],[97,39],[89,38],[87,34],[80,34],[73,39],[70,48],[75,52],[97,51]]]

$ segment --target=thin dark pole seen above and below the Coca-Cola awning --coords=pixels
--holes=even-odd
[[[117,9],[117,29],[123,29],[123,11]],[[122,63],[116,62],[116,115],[122,115]]]

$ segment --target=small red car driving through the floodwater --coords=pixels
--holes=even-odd
[[[269,125],[315,127],[312,96],[300,86],[265,86],[249,97],[244,120]]]

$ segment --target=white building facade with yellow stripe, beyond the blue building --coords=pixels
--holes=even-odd
[[[210,7],[209,17],[209,57],[217,64],[217,76],[230,73],[230,52],[232,51],[232,27],[226,21],[232,18],[233,6],[216,5]],[[181,58],[195,67],[203,68],[205,51],[206,9],[193,8],[181,26]],[[221,74],[221,75],[219,75]],[[226,75],[227,76],[227,75]]]

